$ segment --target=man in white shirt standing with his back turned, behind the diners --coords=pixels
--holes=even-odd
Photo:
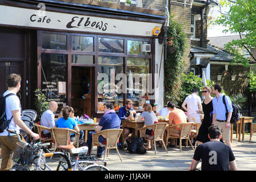
[[[197,111],[199,110],[199,113],[202,113],[203,108],[201,98],[198,96],[197,88],[194,88],[192,93],[185,98],[185,101],[182,104],[182,108],[187,111],[187,119],[189,120],[188,122],[201,122],[200,115],[197,114]]]

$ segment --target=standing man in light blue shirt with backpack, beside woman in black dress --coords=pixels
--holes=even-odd
[[[226,107],[223,103],[224,94],[221,93],[222,86],[220,84],[215,84],[211,90],[212,93],[215,94],[215,97],[213,98],[212,125],[216,125],[222,129],[222,138],[232,150],[232,144],[230,142],[230,118],[233,112],[233,107],[231,100],[228,96],[225,96],[227,111],[229,113],[226,118]]]

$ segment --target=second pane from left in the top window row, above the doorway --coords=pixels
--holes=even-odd
[[[72,36],[73,51],[94,51],[93,38],[86,36]]]

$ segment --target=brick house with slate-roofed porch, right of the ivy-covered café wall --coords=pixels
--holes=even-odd
[[[230,65],[232,55],[223,51],[224,43],[218,39],[215,42],[221,45],[210,45],[207,40],[207,15],[211,7],[216,6],[215,1],[170,1],[170,13],[175,20],[183,25],[187,34],[188,49],[185,52],[184,72],[194,72],[194,75],[202,77],[205,72],[206,79],[220,83],[229,94],[247,94],[248,68],[242,64]]]

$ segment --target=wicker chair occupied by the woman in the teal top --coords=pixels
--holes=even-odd
[[[74,142],[71,142],[71,144],[73,143],[76,147],[79,146],[80,133],[77,133],[77,131],[60,127],[53,127],[51,130],[53,131],[53,138],[55,142],[53,152],[55,152],[60,145],[66,146],[67,144],[70,144],[69,138],[72,133],[75,134],[75,140]]]

